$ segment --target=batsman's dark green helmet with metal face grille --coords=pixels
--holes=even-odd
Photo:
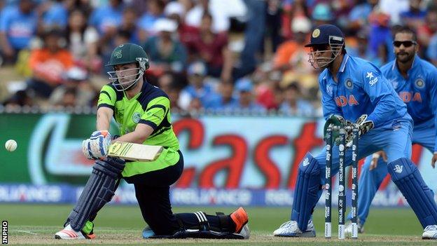
[[[130,77],[132,77],[130,80],[120,82],[118,78],[118,74],[123,73],[127,70],[133,70],[133,69],[125,69],[125,70],[118,70],[118,71],[109,71],[109,79],[111,79],[111,83],[116,88],[116,90],[123,91],[123,90],[129,90],[130,88],[133,88],[136,83],[138,83],[139,78],[142,78],[144,71],[146,71],[149,67],[148,62],[148,56],[146,54],[146,51],[144,51],[141,46],[138,46],[134,43],[124,43],[120,46],[117,46],[112,54],[111,58],[106,64],[106,66],[116,66],[120,64],[130,64],[130,63],[136,63],[137,68],[134,68],[137,70],[136,74],[132,74]]]

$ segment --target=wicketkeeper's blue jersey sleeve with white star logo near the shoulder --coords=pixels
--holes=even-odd
[[[368,116],[368,120],[373,121],[375,128],[396,110],[396,93],[389,86],[389,81],[381,71],[371,65],[361,69],[361,81],[363,89],[370,97],[370,101],[375,105],[375,109]]]

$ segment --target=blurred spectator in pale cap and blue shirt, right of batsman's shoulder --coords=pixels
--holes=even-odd
[[[183,88],[179,97],[179,105],[182,109],[188,110],[190,103],[196,98],[200,105],[206,105],[211,98],[217,96],[214,87],[207,81],[206,75],[207,68],[202,62],[190,64],[188,67],[189,85]]]

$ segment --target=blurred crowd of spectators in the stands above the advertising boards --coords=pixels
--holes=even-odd
[[[320,116],[317,71],[304,47],[338,25],[347,53],[393,60],[408,25],[437,64],[435,0],[0,0],[0,104],[94,107],[121,43],[146,50],[146,78],[174,111]]]

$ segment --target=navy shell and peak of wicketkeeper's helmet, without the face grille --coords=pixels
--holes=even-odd
[[[335,27],[335,25],[319,25],[312,31],[311,41],[305,47],[343,43],[345,43],[345,36],[340,28]]]

